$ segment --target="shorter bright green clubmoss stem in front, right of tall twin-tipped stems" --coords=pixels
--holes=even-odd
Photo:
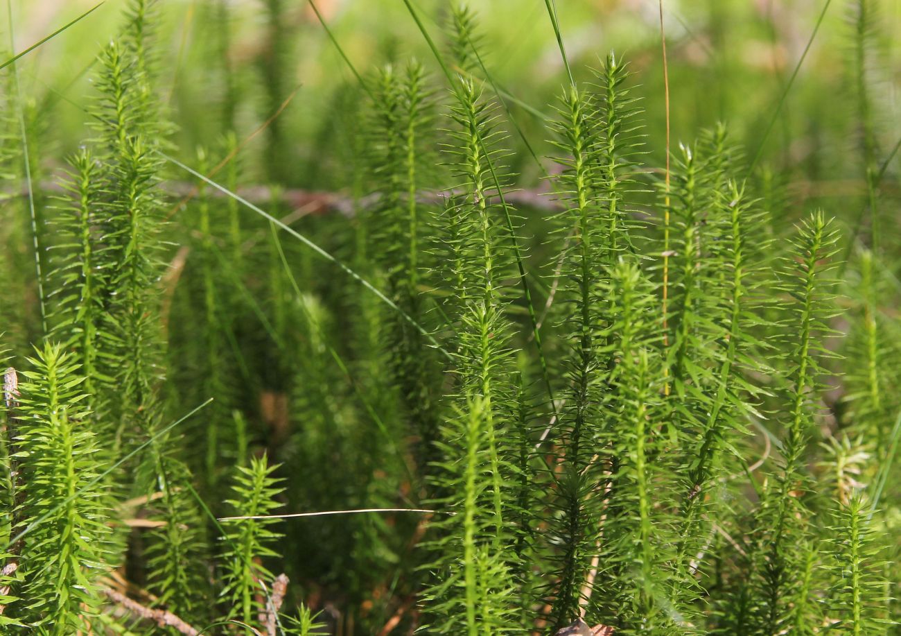
[[[605,493],[610,506],[598,543],[614,581],[597,590],[610,590],[597,602],[607,612],[619,606],[619,626],[627,633],[666,633],[667,626],[672,629],[666,599],[691,581],[677,585],[669,572],[675,529],[659,503],[670,500],[675,484],[664,438],[655,435],[666,411],[660,408],[663,361],[655,350],[654,297],[636,266],[620,263],[611,274],[601,290],[615,308],[605,334],[614,364],[607,398],[612,417],[601,438],[611,466]]]

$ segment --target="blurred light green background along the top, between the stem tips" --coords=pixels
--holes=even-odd
[[[94,14],[34,51],[21,63],[23,95],[32,103],[39,129],[50,132],[53,156],[74,149],[85,137],[83,108],[91,97],[91,65],[99,47],[120,28],[125,0],[107,0]],[[718,121],[749,153],[760,146],[796,62],[804,51],[825,0],[665,0],[669,46],[673,143],[694,139]],[[11,12],[16,50],[84,12],[85,0],[20,0]],[[363,74],[409,55],[437,67],[401,0],[319,0],[323,16]],[[444,0],[417,0],[436,36],[446,22]],[[855,195],[862,184],[850,159],[856,102],[847,68],[853,56],[850,4],[833,2],[794,87],[770,134],[764,159],[804,195]],[[478,12],[486,60],[496,80],[514,97],[547,112],[564,79],[560,56],[541,0],[481,0]],[[250,134],[294,91],[278,118],[281,148],[271,161],[242,173],[248,181],[277,181],[311,189],[341,188],[347,177],[332,170],[342,161],[339,100],[353,78],[305,0],[165,0],[155,24],[161,56],[159,85],[177,124],[174,143],[186,157],[198,144],[215,147],[232,123],[239,138]],[[224,9],[224,10],[223,10]],[[901,2],[878,3],[878,51],[870,60],[880,142],[896,141]],[[615,50],[633,65],[645,98],[648,132],[664,134],[660,23],[656,0],[565,0],[560,23],[574,60],[586,62]],[[223,19],[224,14],[227,19]],[[274,20],[273,15],[278,15]],[[225,66],[231,69],[233,115],[225,115]],[[548,136],[543,123],[522,107],[514,116],[538,148]],[[266,135],[246,152],[267,153]],[[514,143],[516,140],[513,140]],[[661,143],[651,144],[661,147]],[[826,152],[824,152],[826,149]],[[543,154],[544,152],[542,152]],[[47,154],[44,154],[45,158]],[[655,158],[662,161],[662,157]],[[273,162],[278,164],[272,174]],[[259,174],[267,167],[269,174]],[[340,168],[340,165],[338,166]],[[514,163],[523,182],[533,183],[534,165]],[[254,173],[254,171],[258,171]],[[343,182],[342,182],[343,181]],[[828,183],[824,183],[828,182]]]

